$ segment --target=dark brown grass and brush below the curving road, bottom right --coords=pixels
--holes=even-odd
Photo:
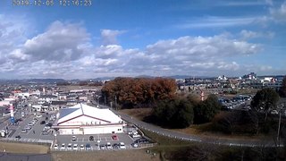
[[[144,131],[144,130],[143,130]],[[155,132],[144,133],[156,140],[158,146],[147,148],[149,153],[156,153],[161,160],[285,160],[286,148],[229,147],[185,140],[170,139]]]

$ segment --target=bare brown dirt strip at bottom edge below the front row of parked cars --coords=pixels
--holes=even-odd
[[[52,159],[54,161],[145,161],[154,160],[159,161],[159,154],[156,156],[153,153],[147,154],[145,149],[138,150],[118,150],[118,151],[90,151],[90,152],[53,152]]]

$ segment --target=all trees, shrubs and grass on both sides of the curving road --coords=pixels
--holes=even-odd
[[[168,89],[169,88],[169,89]],[[118,78],[105,84],[102,89],[107,101],[117,109],[140,120],[174,131],[212,133],[219,136],[252,137],[283,143],[286,136],[286,119],[273,112],[286,107],[281,102],[286,93],[286,80],[279,91],[260,89],[251,101],[249,110],[222,111],[215,95],[200,101],[192,95],[175,93],[175,83],[170,79]],[[281,97],[280,97],[281,96]],[[116,98],[116,99],[114,99]],[[130,110],[126,110],[130,109]],[[147,108],[145,110],[144,108]],[[143,109],[143,110],[142,110]],[[145,115],[145,116],[144,116]],[[158,142],[149,148],[160,154],[161,160],[284,160],[286,148],[241,148],[190,143],[170,139],[150,131],[146,135]],[[239,137],[241,138],[241,137]]]

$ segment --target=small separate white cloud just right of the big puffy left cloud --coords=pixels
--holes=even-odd
[[[125,30],[101,30],[101,38],[104,45],[117,44],[117,36],[124,33]]]

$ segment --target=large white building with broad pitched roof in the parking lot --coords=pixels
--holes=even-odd
[[[122,133],[122,119],[109,109],[78,104],[63,108],[54,129],[59,134]]]

